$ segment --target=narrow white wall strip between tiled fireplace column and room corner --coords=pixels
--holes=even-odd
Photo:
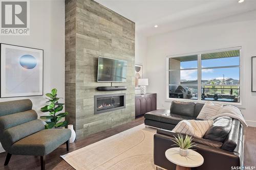
[[[140,33],[135,33],[135,64],[143,65],[143,78],[147,78],[146,67],[147,38]],[[149,91],[148,91],[149,92]],[[140,89],[135,90],[136,94]]]

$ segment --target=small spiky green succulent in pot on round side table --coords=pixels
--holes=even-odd
[[[194,145],[194,142],[192,142],[193,138],[191,136],[186,135],[185,137],[183,137],[181,134],[178,134],[178,136],[174,136],[175,140],[172,140],[173,142],[175,142],[179,148],[179,154],[181,156],[187,156],[188,154],[188,149],[191,149],[193,147],[195,147],[196,145]]]

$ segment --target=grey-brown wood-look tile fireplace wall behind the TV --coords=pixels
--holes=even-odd
[[[127,61],[127,86],[97,91],[98,56]],[[127,122],[135,117],[135,23],[91,0],[66,1],[66,111],[77,138]],[[94,114],[94,96],[125,93],[125,108]]]

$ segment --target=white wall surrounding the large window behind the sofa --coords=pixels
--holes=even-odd
[[[157,93],[157,107],[168,109],[166,101],[166,56],[242,46],[242,113],[256,126],[256,93],[251,92],[251,57],[256,56],[256,11],[233,16],[172,33],[148,37],[148,91]]]

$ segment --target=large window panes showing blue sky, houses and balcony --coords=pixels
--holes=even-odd
[[[240,48],[168,57],[168,79],[168,98],[239,103]]]

